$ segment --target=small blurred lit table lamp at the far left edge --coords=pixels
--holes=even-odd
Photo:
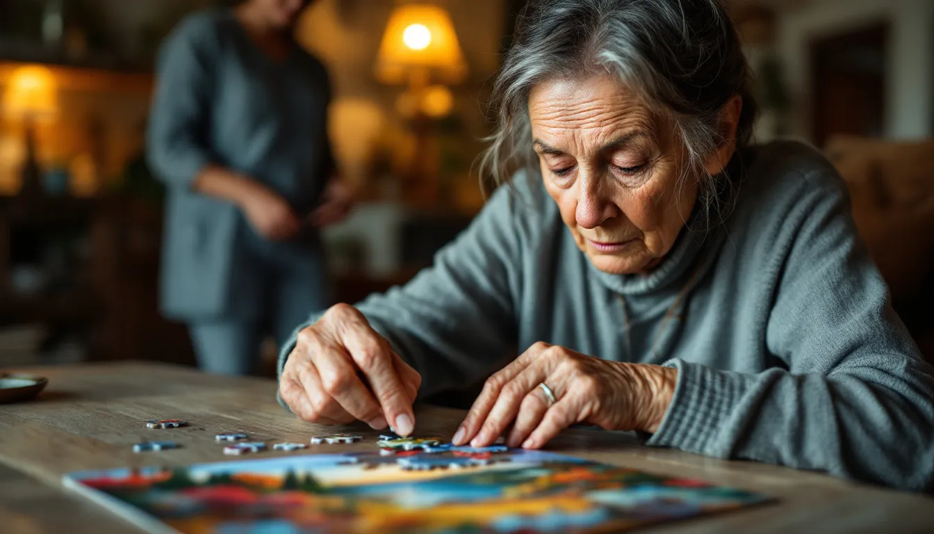
[[[58,87],[52,71],[24,65],[10,75],[3,95],[3,111],[23,123],[25,159],[20,195],[40,195],[42,183],[35,154],[35,121],[58,112]]]

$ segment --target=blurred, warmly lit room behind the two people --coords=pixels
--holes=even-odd
[[[0,368],[193,365],[159,310],[163,185],[144,137],[163,37],[212,0],[0,0]],[[324,237],[337,301],[411,278],[483,206],[474,159],[522,0],[319,0],[330,135],[358,204]],[[934,356],[934,0],[733,0],[757,140],[825,151]],[[309,310],[311,311],[311,310]],[[267,347],[272,373],[276,347]]]

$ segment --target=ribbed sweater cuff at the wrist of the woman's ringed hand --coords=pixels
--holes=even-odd
[[[717,438],[746,391],[743,376],[677,358],[664,366],[678,369],[678,381],[658,431],[645,444],[717,457],[728,455],[729,445]]]

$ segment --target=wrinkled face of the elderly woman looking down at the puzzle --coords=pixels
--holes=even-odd
[[[644,273],[684,227],[697,180],[672,128],[610,76],[556,79],[529,96],[545,189],[577,247],[603,272]]]

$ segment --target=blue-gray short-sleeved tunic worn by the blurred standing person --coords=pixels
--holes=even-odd
[[[180,319],[255,318],[262,278],[255,256],[323,269],[317,234],[259,238],[233,204],[191,191],[210,163],[260,180],[307,214],[333,172],[327,72],[297,45],[276,61],[229,10],[189,16],[160,51],[148,159],[169,186],[163,310]],[[304,266],[304,267],[303,267]]]

